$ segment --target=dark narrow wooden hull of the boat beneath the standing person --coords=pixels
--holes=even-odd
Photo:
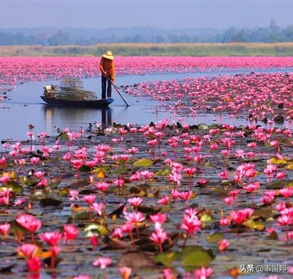
[[[100,99],[95,101],[70,101],[70,100],[60,100],[54,98],[48,98],[45,96],[40,96],[43,101],[45,101],[50,106],[66,106],[66,107],[83,107],[83,108],[105,108],[110,105],[114,99]]]

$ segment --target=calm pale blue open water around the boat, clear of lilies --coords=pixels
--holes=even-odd
[[[267,69],[254,71],[259,72],[277,72],[277,71],[291,71],[292,69]],[[188,76],[200,77],[236,73],[249,73],[251,69],[241,70],[221,70],[221,71],[207,71],[197,73],[167,73],[167,74],[149,74],[149,75],[125,75],[117,76],[117,86],[131,85],[134,83],[141,83],[143,81],[157,81],[170,80],[174,78],[183,79]],[[84,89],[100,93],[101,80],[100,77],[84,78]],[[60,81],[46,80],[42,82],[28,81],[24,84],[16,86],[16,89],[7,92],[7,97],[0,102],[0,140],[27,139],[26,132],[28,124],[35,126],[35,131],[46,131],[49,135],[56,135],[57,128],[78,130],[80,128],[88,128],[89,123],[128,123],[146,124],[150,121],[158,121],[164,118],[169,118],[171,121],[177,121],[180,116],[170,113],[158,112],[155,109],[160,108],[160,103],[150,98],[135,97],[133,95],[124,94],[126,101],[130,107],[126,107],[121,97],[112,89],[112,97],[115,99],[114,103],[108,109],[87,109],[87,108],[67,108],[67,107],[50,107],[47,106],[40,95],[43,93],[43,86],[46,84],[57,84]],[[199,123],[224,123],[229,124],[245,124],[246,120],[228,116],[213,116],[211,114],[200,115],[196,117],[186,117],[184,122],[189,124]]]

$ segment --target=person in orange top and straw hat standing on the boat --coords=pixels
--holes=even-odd
[[[101,58],[100,70],[102,71],[102,99],[106,98],[107,83],[107,98],[111,98],[111,83],[115,83],[115,67],[113,59],[114,56],[112,56],[111,51],[106,51],[106,53]]]

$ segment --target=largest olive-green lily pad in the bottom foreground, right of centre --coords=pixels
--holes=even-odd
[[[211,249],[206,250],[201,246],[189,246],[182,251],[182,265],[184,266],[209,266],[215,258]]]

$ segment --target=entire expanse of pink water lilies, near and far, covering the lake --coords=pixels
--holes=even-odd
[[[98,76],[99,62],[1,57],[0,89],[6,96],[29,80]],[[293,57],[115,62],[118,75],[283,71],[120,88],[126,99],[155,100],[154,112],[178,122],[92,119],[86,129],[70,122],[48,135],[32,118],[25,140],[1,139],[0,278],[292,279]],[[200,115],[214,121],[198,123]]]

